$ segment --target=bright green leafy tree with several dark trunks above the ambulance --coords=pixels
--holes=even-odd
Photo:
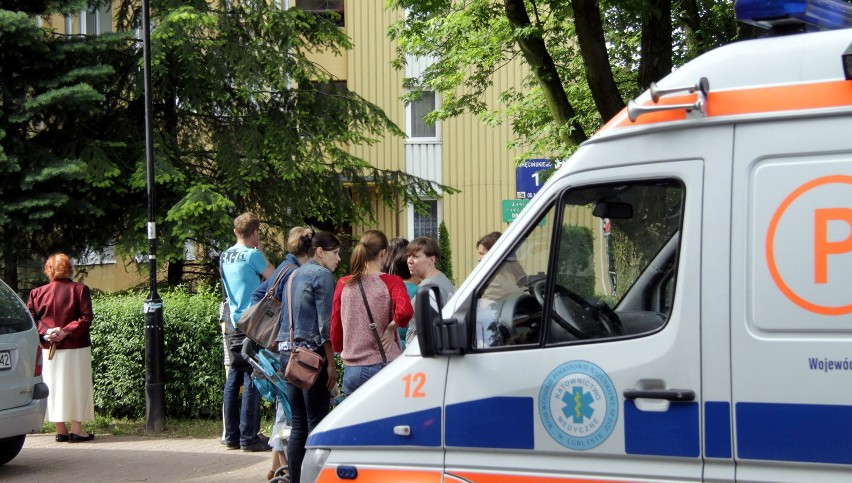
[[[439,91],[444,119],[469,111],[508,120],[525,158],[564,158],[672,68],[718,45],[754,35],[733,3],[718,0],[391,0],[407,15],[390,31],[406,55],[437,59],[410,86]],[[525,85],[483,93],[499,69],[523,62]],[[697,79],[696,79],[697,81]]]

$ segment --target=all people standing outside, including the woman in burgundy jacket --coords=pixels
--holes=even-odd
[[[437,268],[438,243],[420,237],[388,240],[378,230],[364,232],[352,251],[351,274],[335,280],[340,240],[332,233],[307,227],[290,230],[288,253],[273,268],[260,246],[260,221],[251,213],[234,220],[236,243],[222,252],[220,271],[226,303],[220,321],[226,334],[229,370],[223,391],[224,434],[229,449],[272,450],[272,470],[287,466],[298,482],[308,434],[328,414],[338,375],[335,353],[343,360],[343,394],[348,396],[402,354],[416,330],[410,324],[413,299],[420,285],[439,287],[446,301],[455,291]],[[281,301],[276,341],[281,370],[296,347],[323,356],[324,370],[310,388],[287,383],[286,398],[276,403],[273,437],[260,432],[260,394],[251,380],[252,368],[240,354],[244,336],[236,328],[242,313],[263,298],[281,271],[275,296]],[[56,425],[56,441],[79,442],[95,435],[82,428],[94,419],[91,338],[92,302],[88,287],[73,282],[67,255],[45,263],[50,283],[30,293],[28,307],[38,322],[45,351],[44,379],[50,388],[48,420]],[[292,332],[291,332],[292,326]],[[71,428],[66,425],[71,421]],[[289,428],[289,438],[282,428]],[[285,436],[285,437],[282,437]]]

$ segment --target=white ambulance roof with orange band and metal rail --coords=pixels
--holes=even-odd
[[[663,78],[655,86],[656,98],[649,89],[631,101],[593,139],[634,131],[623,128],[664,123],[671,126],[671,122],[688,119],[712,122],[730,116],[769,112],[795,115],[813,109],[852,107],[852,81],[845,78],[842,58],[850,48],[852,29],[769,37],[720,47]],[[702,98],[696,93],[702,79],[706,79],[704,86],[709,89],[701,108],[677,109]]]

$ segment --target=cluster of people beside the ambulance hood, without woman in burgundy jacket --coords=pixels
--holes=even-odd
[[[262,299],[277,280],[274,295],[281,301],[281,320],[276,341],[281,371],[297,347],[322,356],[324,367],[306,389],[286,384],[283,396],[290,418],[283,401],[277,401],[274,434],[266,442],[258,435],[260,397],[250,382],[251,369],[235,370],[232,362],[225,384],[223,443],[246,451],[272,449],[267,476],[280,474],[279,468],[286,466],[290,480],[298,482],[308,434],[331,408],[338,381],[335,354],[343,360],[345,397],[399,357],[406,341],[413,340],[416,331],[410,321],[417,287],[437,285],[444,300],[455,287],[436,268],[441,255],[431,238],[388,240],[381,231],[368,230],[352,250],[350,275],[335,280],[341,242],[334,234],[307,227],[291,229],[287,256],[273,269],[260,249],[259,229],[254,215],[240,215],[234,220],[237,243],[222,253],[223,288],[231,314],[226,331],[236,332],[242,312]],[[230,356],[239,359],[235,350]],[[238,399],[240,387],[243,395]]]

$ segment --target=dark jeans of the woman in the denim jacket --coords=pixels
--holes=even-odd
[[[279,357],[281,367],[286,368],[290,360],[289,353]],[[283,371],[283,369],[282,369]],[[331,394],[328,392],[328,370],[323,370],[317,382],[310,389],[299,389],[287,383],[287,400],[293,418],[290,441],[287,443],[287,464],[290,467],[290,481],[299,483],[302,476],[302,460],[305,459],[305,443],[308,434],[322,421],[331,408]]]

